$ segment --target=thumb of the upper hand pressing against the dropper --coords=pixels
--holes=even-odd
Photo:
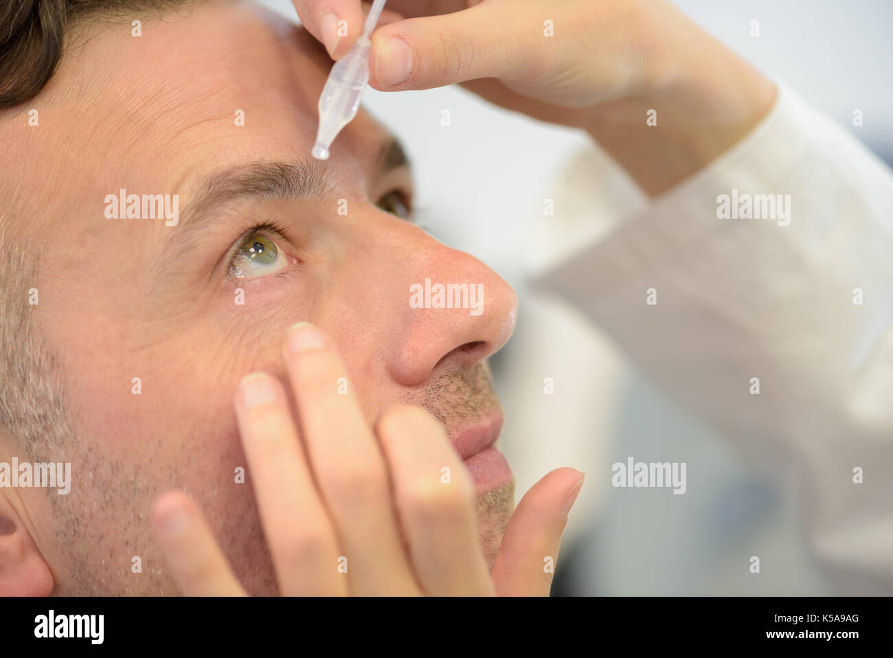
[[[494,5],[497,6],[494,9]],[[382,91],[431,89],[477,78],[511,77],[522,48],[498,3],[395,21],[372,33],[370,84]]]

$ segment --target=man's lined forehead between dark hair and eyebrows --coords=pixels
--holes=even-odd
[[[305,30],[245,2],[146,18],[139,37],[129,23],[88,30],[22,143],[34,164],[22,173],[52,185],[60,206],[120,188],[188,193],[181,185],[222,166],[309,156],[331,62]],[[362,185],[385,136],[359,114],[332,149],[339,182]]]

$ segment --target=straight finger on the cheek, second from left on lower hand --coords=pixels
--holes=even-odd
[[[239,384],[236,417],[280,594],[346,595],[335,527],[282,385],[270,375],[247,375]]]

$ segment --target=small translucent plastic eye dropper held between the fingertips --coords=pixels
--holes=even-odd
[[[329,79],[322,88],[320,96],[320,126],[316,131],[316,143],[313,144],[313,157],[319,160],[329,158],[329,148],[338,133],[356,116],[360,109],[360,99],[369,84],[369,40],[375,24],[379,21],[385,0],[375,0],[363,34],[356,38],[347,54],[332,66]]]

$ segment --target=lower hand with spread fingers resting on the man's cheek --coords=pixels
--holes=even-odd
[[[248,375],[235,401],[280,594],[548,595],[545,559],[557,557],[580,472],[558,468],[530,489],[490,574],[472,481],[443,426],[396,406],[373,433],[355,397],[338,392],[346,369],[313,325],[292,328],[285,359],[300,433],[270,375]],[[185,493],[159,498],[153,523],[183,594],[246,594]]]

